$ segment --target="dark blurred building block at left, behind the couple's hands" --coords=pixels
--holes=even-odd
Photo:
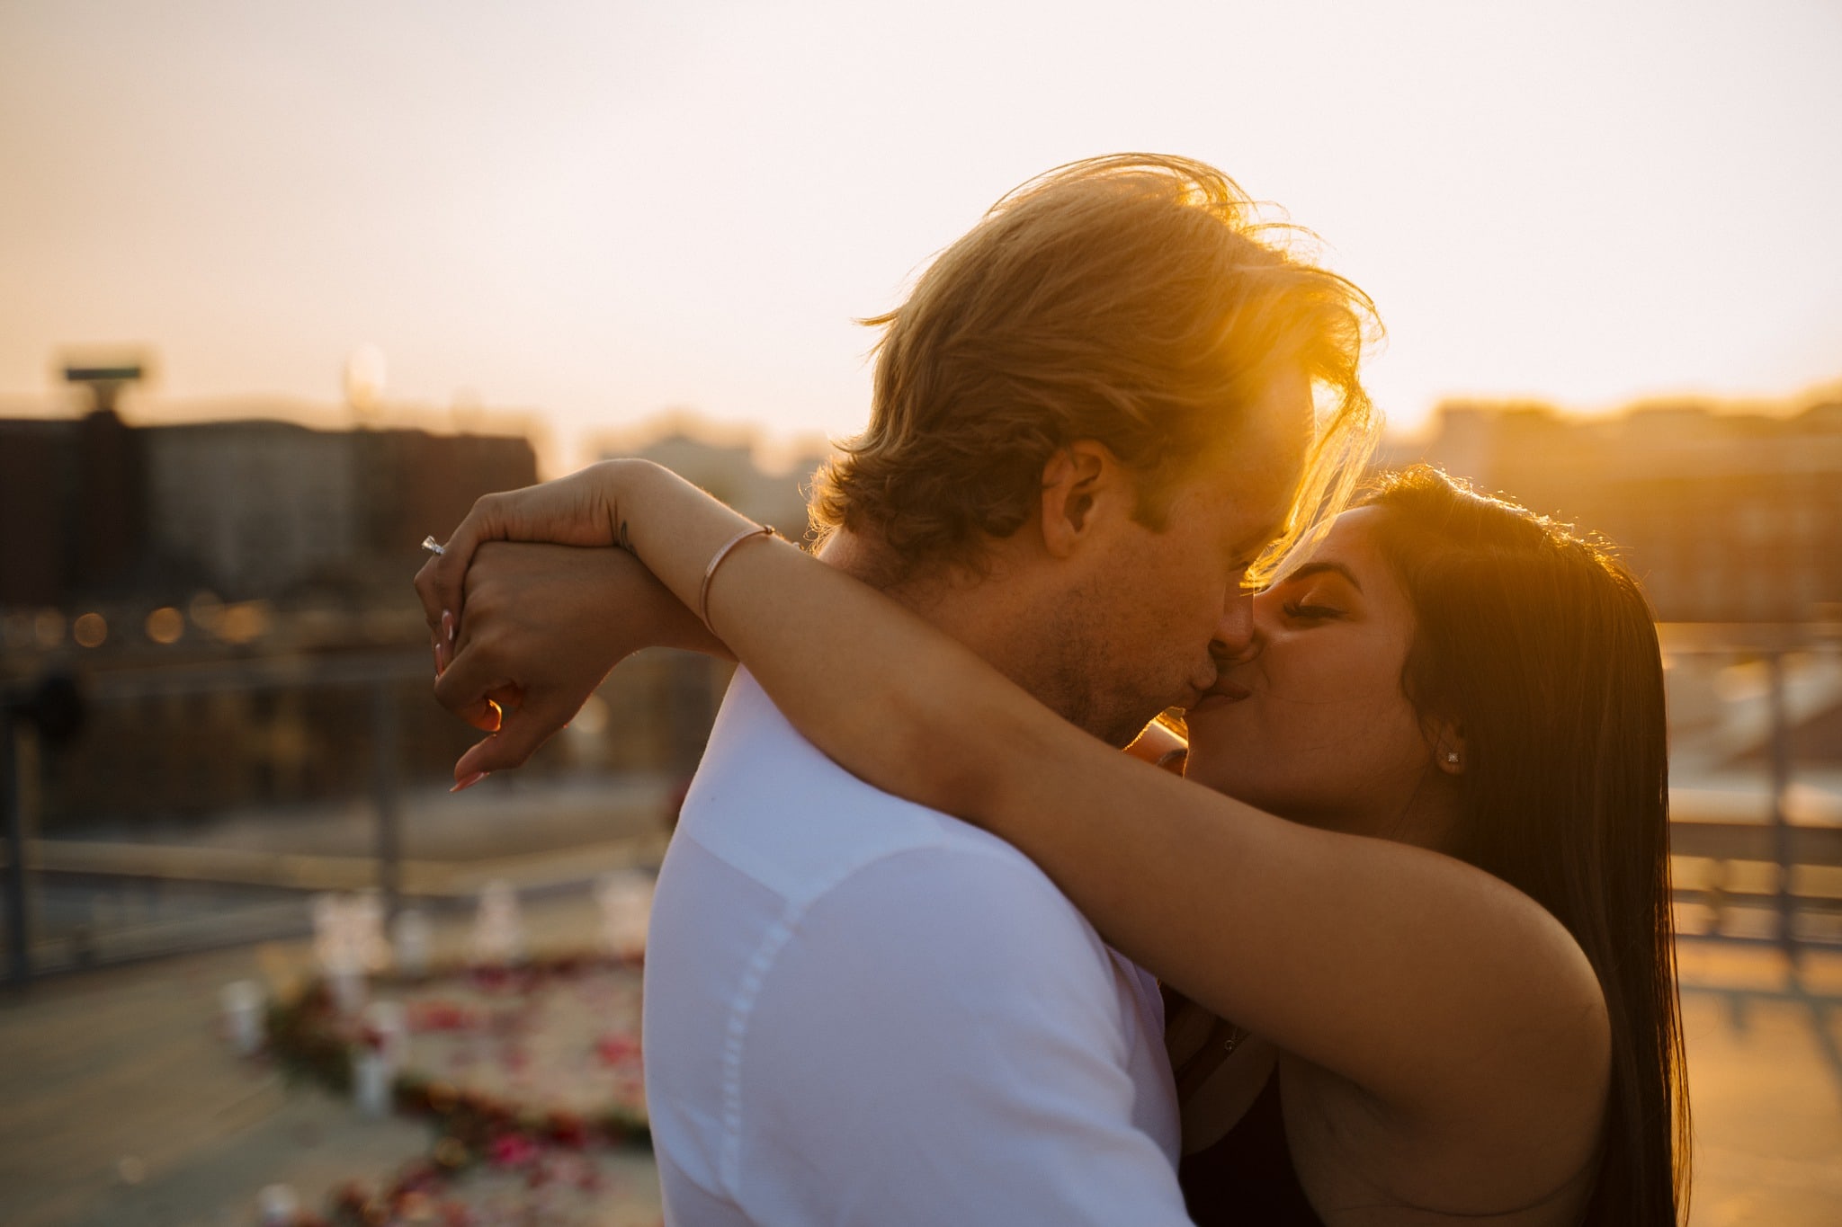
[[[521,436],[0,419],[0,607],[210,591],[402,603],[416,543],[536,480]]]

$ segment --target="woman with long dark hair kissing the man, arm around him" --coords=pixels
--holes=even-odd
[[[1254,596],[1177,780],[750,528],[613,462],[484,500],[444,567],[619,535],[659,581],[623,653],[698,609],[845,769],[1035,859],[1172,992],[1197,1221],[1685,1214],[1661,659],[1604,548],[1383,480]]]

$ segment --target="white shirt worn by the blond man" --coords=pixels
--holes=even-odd
[[[643,1025],[676,1227],[1190,1221],[1151,977],[748,673],[659,872]]]

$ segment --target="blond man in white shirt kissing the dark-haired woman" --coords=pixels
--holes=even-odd
[[[1004,197],[873,320],[869,429],[812,499],[822,557],[1114,745],[1195,703],[1245,646],[1249,572],[1372,434],[1367,300],[1271,234],[1183,158]],[[529,550],[468,574],[438,694],[518,706],[457,774],[523,762],[624,649],[595,620],[602,561]],[[418,587],[446,662],[457,598]],[[659,874],[645,1050],[672,1223],[1186,1221],[1151,977],[1022,854],[845,774],[746,673]]]

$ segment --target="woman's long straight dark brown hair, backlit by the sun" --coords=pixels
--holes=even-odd
[[[1604,990],[1612,1089],[1582,1221],[1676,1223],[1689,1100],[1650,607],[1603,545],[1437,469],[1382,478],[1365,506],[1416,616],[1407,697],[1464,738],[1451,852],[1553,912]]]

